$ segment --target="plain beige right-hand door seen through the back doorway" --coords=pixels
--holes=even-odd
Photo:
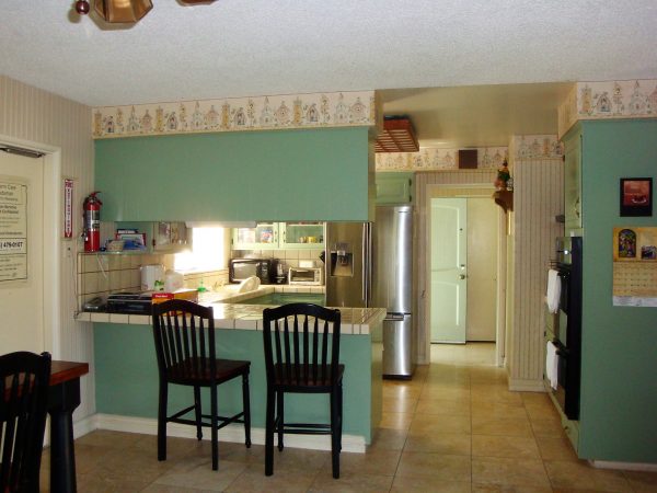
[[[498,222],[494,200],[468,198],[468,341],[495,341]]]

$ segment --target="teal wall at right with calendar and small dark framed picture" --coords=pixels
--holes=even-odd
[[[579,456],[657,462],[657,308],[612,306],[612,229],[657,226],[655,215],[619,214],[621,177],[652,176],[657,186],[657,121],[584,122],[581,130],[585,285]]]

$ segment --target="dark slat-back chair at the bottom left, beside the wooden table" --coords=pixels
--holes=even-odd
[[[0,491],[38,492],[50,355],[0,356]]]

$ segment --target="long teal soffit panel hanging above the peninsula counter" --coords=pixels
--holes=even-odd
[[[367,127],[103,139],[95,187],[102,220],[369,220],[371,152]]]

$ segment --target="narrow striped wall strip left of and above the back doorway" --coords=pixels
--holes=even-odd
[[[468,185],[489,185],[495,181],[497,176],[496,170],[453,170],[453,171],[434,171],[434,172],[418,172],[415,175],[415,193],[416,197],[415,208],[417,217],[417,229],[416,229],[416,249],[417,249],[417,352],[416,360],[418,364],[428,364],[430,359],[429,349],[429,326],[427,320],[427,308],[425,306],[426,299],[423,294],[428,293],[427,286],[427,262],[428,262],[428,248],[427,248],[427,233],[428,233],[428,210],[427,199],[430,185],[450,185],[449,188],[445,190],[443,196],[453,196],[456,194],[480,194],[481,191],[471,190]],[[463,187],[453,187],[453,185],[463,185]],[[485,192],[487,195],[492,195],[492,192]],[[491,198],[492,199],[492,198]]]

